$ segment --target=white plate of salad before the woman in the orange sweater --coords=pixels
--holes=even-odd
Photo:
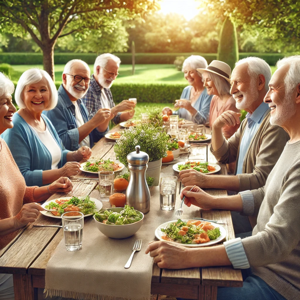
[[[54,200],[50,200],[42,204],[42,207],[46,209],[56,209],[56,211],[41,211],[47,217],[61,218],[61,214],[67,211],[80,211],[85,217],[91,216],[96,211],[102,208],[102,202],[90,196],[85,197],[62,197]]]

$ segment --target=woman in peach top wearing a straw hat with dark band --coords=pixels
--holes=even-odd
[[[235,107],[235,100],[229,92],[231,73],[229,65],[223,61],[213,60],[205,69],[199,68],[197,71],[202,74],[202,82],[207,94],[214,95],[209,110],[209,126],[211,127],[217,117],[227,110],[239,113]],[[239,125],[225,125],[222,128],[223,136],[229,139],[237,131]]]

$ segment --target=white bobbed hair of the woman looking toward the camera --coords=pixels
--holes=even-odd
[[[23,90],[26,86],[35,84],[40,82],[43,78],[45,78],[48,82],[48,88],[50,91],[50,98],[49,98],[49,105],[46,107],[45,110],[52,110],[57,104],[57,90],[56,86],[50,77],[50,75],[41,69],[33,68],[26,70],[20,77],[15,91],[15,101],[18,107],[26,108],[24,101],[22,99]]]

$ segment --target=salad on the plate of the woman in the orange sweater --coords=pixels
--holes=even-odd
[[[46,209],[56,209],[56,211],[50,211],[55,216],[60,216],[67,211],[80,211],[84,215],[92,214],[96,210],[96,204],[90,200],[90,196],[83,197],[81,199],[72,197],[68,199],[56,199],[55,202],[50,202],[45,205]]]

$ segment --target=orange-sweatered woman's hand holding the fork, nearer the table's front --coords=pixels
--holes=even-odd
[[[42,210],[44,210],[44,208],[37,203],[24,204],[20,212],[14,217],[14,224],[16,228],[21,228],[26,226],[28,223],[34,222]]]

